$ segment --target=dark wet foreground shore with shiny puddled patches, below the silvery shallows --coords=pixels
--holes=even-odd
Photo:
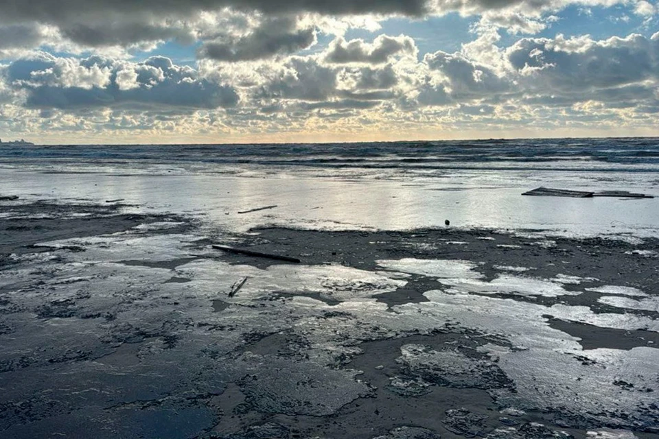
[[[659,438],[658,239],[0,204],[2,437]]]

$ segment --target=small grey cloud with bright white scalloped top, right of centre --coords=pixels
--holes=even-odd
[[[364,40],[346,41],[336,38],[329,44],[325,53],[325,62],[334,64],[364,63],[384,64],[394,56],[416,56],[417,47],[408,36],[380,35],[373,43]]]

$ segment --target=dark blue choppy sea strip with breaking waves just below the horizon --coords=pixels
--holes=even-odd
[[[0,163],[58,168],[130,169],[170,165],[230,172],[341,169],[359,175],[441,176],[464,169],[498,171],[657,172],[659,138],[515,139],[393,143],[239,145],[2,145]],[[373,171],[367,171],[371,169]],[[313,171],[312,171],[313,172]]]

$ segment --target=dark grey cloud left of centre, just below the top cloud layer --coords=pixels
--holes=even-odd
[[[296,29],[296,21],[289,17],[267,19],[246,36],[226,35],[205,43],[198,50],[199,58],[218,61],[246,61],[290,55],[316,42],[314,27]]]

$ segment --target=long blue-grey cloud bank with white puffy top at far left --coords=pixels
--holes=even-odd
[[[231,86],[209,82],[164,57],[135,63],[42,54],[13,62],[4,76],[14,91],[25,94],[27,108],[189,111],[231,107],[239,99]]]

